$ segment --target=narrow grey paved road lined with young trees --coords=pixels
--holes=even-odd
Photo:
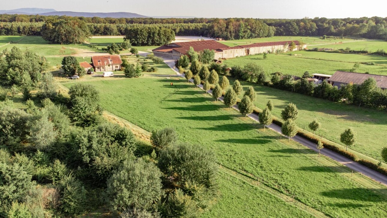
[[[181,77],[184,77],[183,74],[180,74],[178,72],[178,70],[176,69],[175,67],[175,60],[173,59],[166,59],[164,58],[164,62],[171,67],[171,69],[175,70],[176,74],[178,74],[179,76]],[[194,82],[193,79],[190,79],[190,82]],[[203,89],[203,85],[200,84],[199,85],[199,88]],[[207,91],[207,93],[210,93],[212,94],[212,90],[209,90]],[[220,101],[223,102],[223,96],[219,98]],[[233,108],[235,110],[239,110],[238,109],[238,106],[235,105],[233,106]],[[248,117],[252,118],[253,120],[259,122],[259,117],[258,115],[256,115],[255,113],[251,113],[250,115],[248,115]],[[281,132],[281,127],[279,125],[276,125],[276,124],[270,124],[270,125],[267,125],[266,127],[278,132],[279,134],[282,134]],[[286,137],[286,136],[284,136]],[[313,151],[316,151],[316,152],[319,152],[319,150],[316,148],[316,144],[313,143],[313,142],[310,142],[308,141],[307,139],[304,139],[303,137],[301,136],[295,136],[295,137],[291,137],[291,139],[293,139],[294,141],[302,144],[303,146],[306,146],[310,149],[312,149]],[[353,160],[350,160],[334,151],[331,151],[329,149],[321,149],[320,150],[320,154],[322,155],[325,155],[329,158],[332,158],[333,160],[336,160],[337,162],[347,166],[348,168],[354,170],[354,171],[357,171],[357,172],[360,172],[361,174],[363,175],[366,175],[368,177],[370,177],[371,179],[377,181],[377,182],[380,182],[381,184],[384,184],[387,186],[387,176],[383,175],[382,173],[379,173],[379,172],[376,172],[375,170],[372,170],[368,167],[365,167],[363,165],[361,165],[360,163],[357,163],[356,161],[353,161]]]

